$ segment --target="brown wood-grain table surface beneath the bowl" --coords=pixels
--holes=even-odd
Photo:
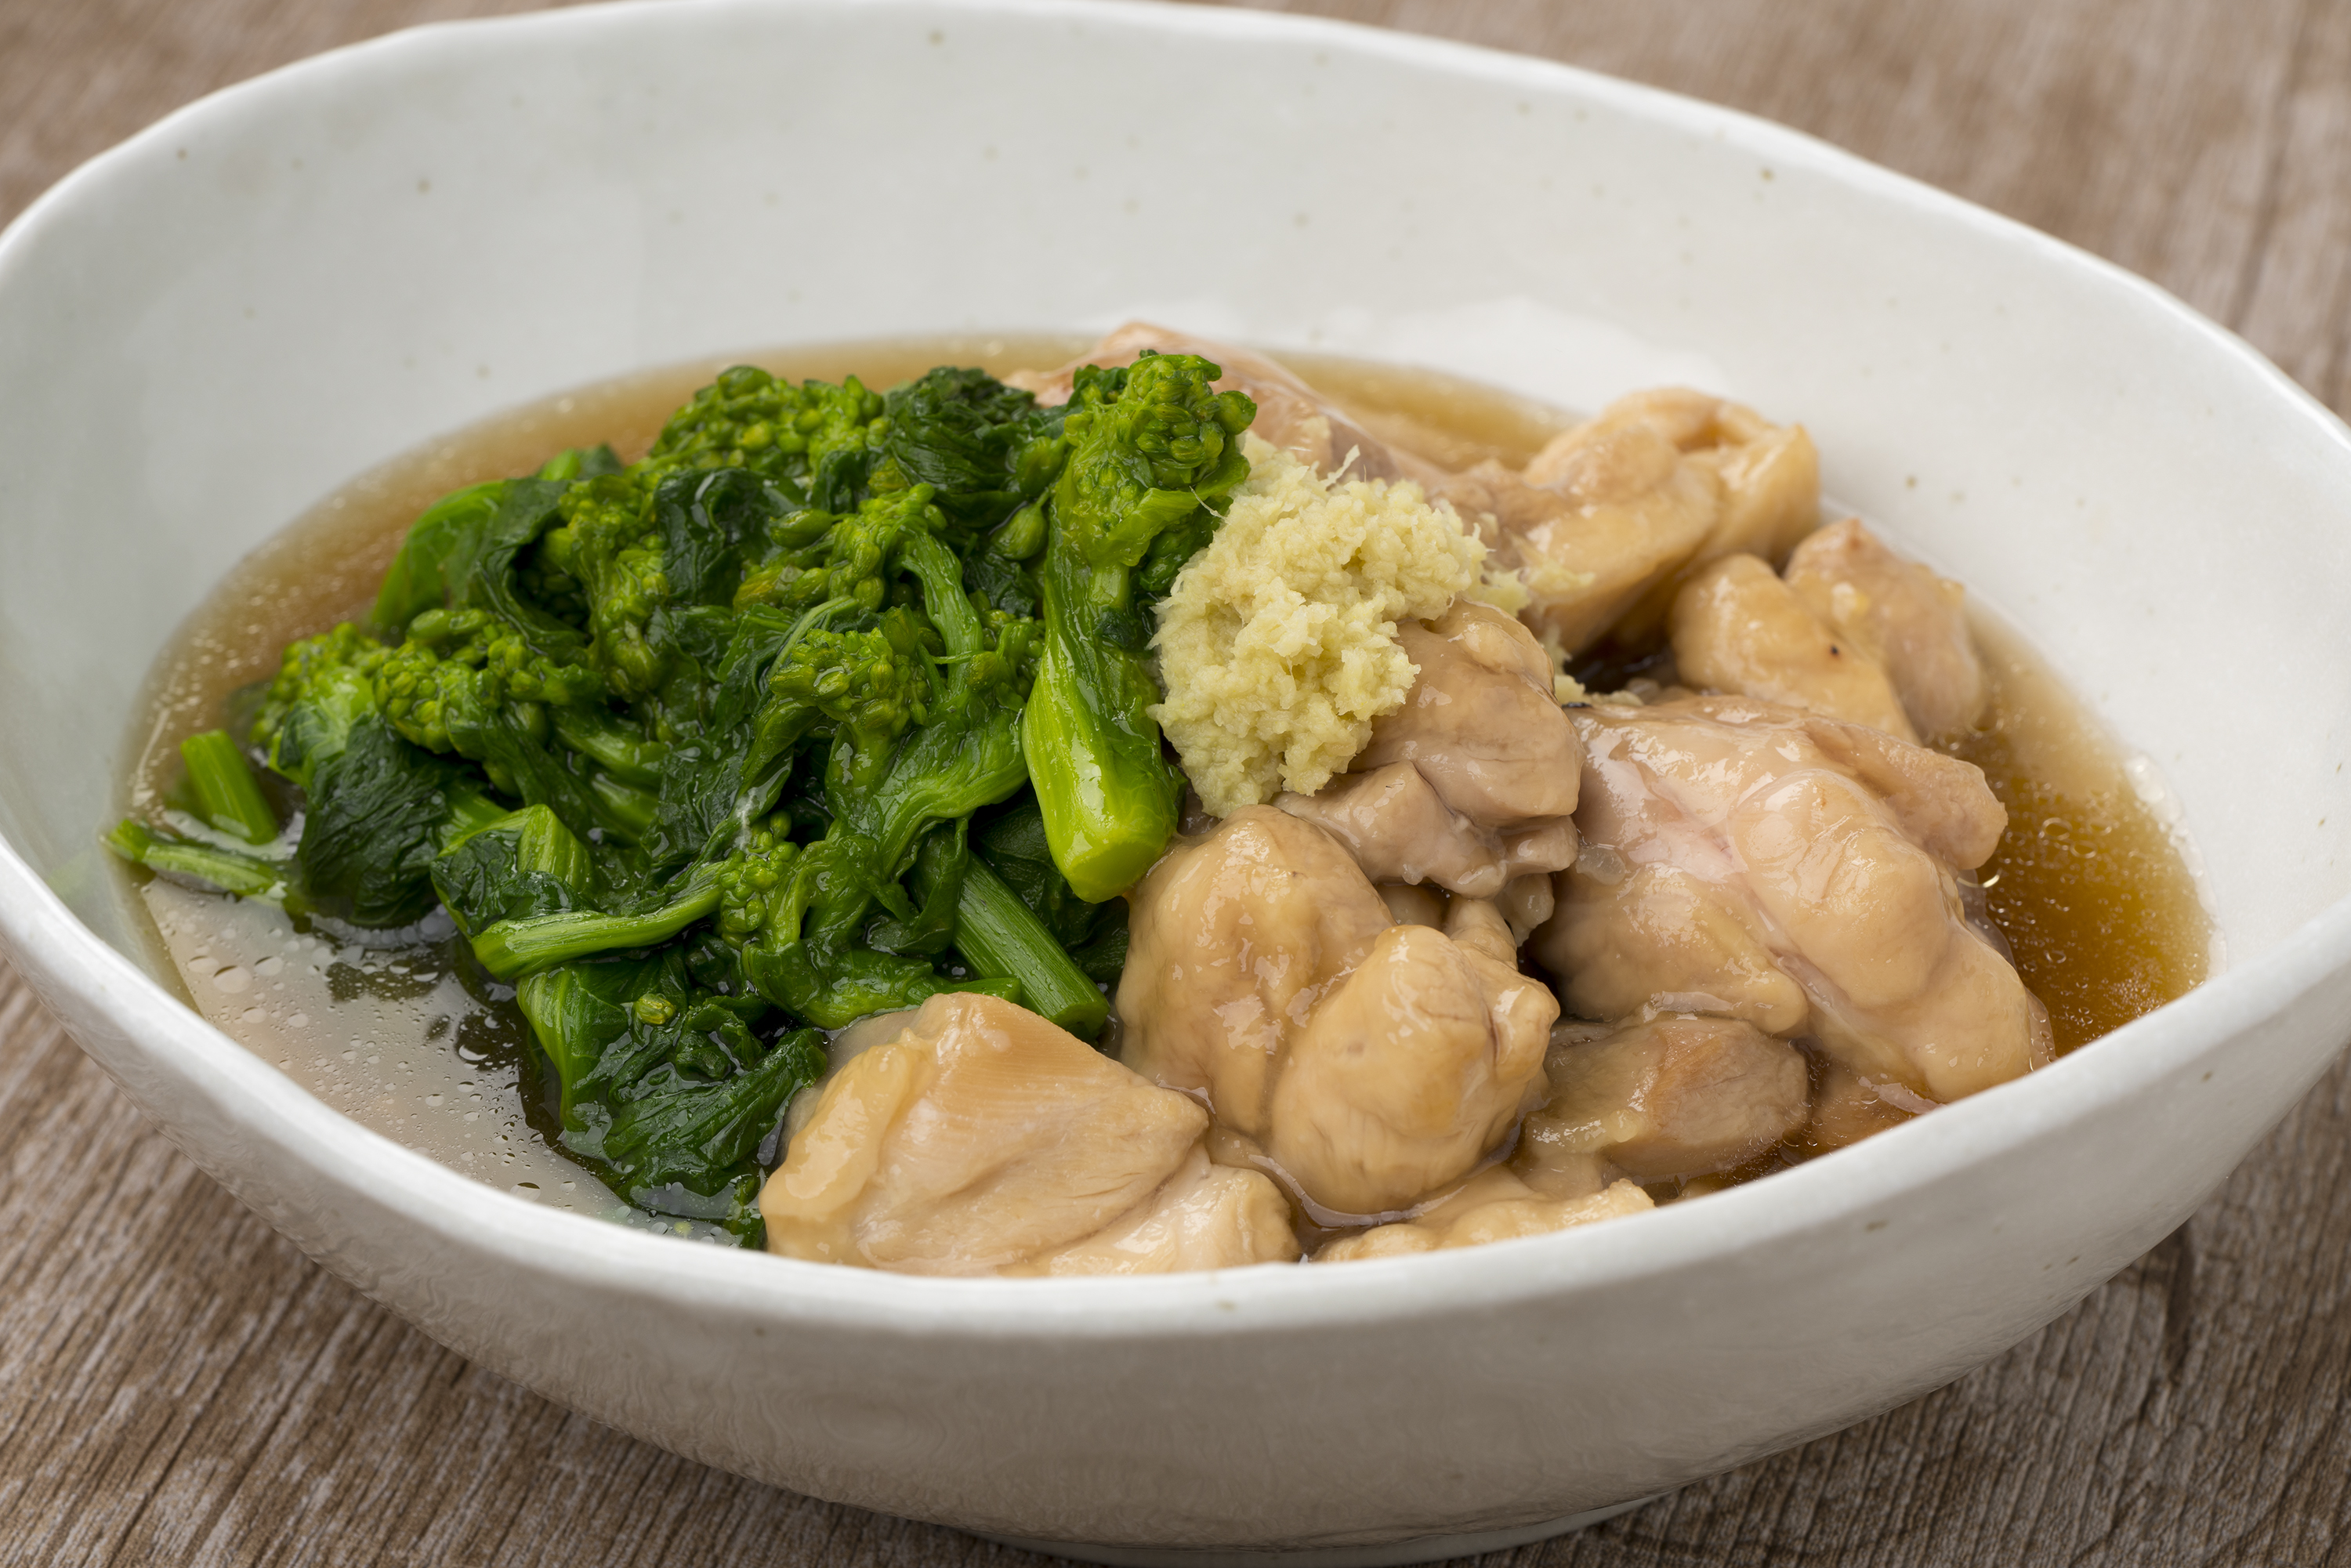
[[[202,92],[498,9],[522,7],[0,0],[0,221]],[[2351,407],[2351,0],[1295,9],[1803,127],[2154,277]],[[0,1154],[5,1563],[1044,1561],[689,1465],[468,1366],[200,1175],[5,971]],[[2346,1396],[2337,1065],[2189,1225],[1991,1366],[1516,1559],[2351,1563]]]

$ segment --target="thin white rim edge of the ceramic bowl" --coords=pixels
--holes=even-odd
[[[2351,430],[2252,346],[2158,284],[2024,223],[1987,212],[1916,179],[1871,165],[1803,132],[1580,66],[1476,45],[1396,33],[1319,16],[1140,0],[614,0],[578,9],[437,21],[308,56],[212,92],[99,153],[35,197],[0,230],[0,292],[47,233],[118,176],[165,162],[190,132],[216,122],[266,120],[280,106],[367,87],[381,78],[463,61],[484,40],[534,45],[632,28],[712,26],[776,12],[830,12],[844,21],[929,16],[947,26],[1077,24],[1143,35],[1237,42],[1312,42],[1474,78],[1528,94],[1587,101],[1657,132],[1716,139],[1843,183],[1909,216],[1970,230],[2012,247],[2036,266],[2067,268],[2186,331],[2210,353],[2250,371],[2332,442],[2351,465]],[[45,999],[71,999],[115,1023],[139,1051],[169,1060],[186,1088],[230,1124],[268,1128],[303,1166],[364,1190],[402,1220],[496,1251],[515,1267],[642,1298],[691,1300],[799,1324],[865,1331],[955,1333],[978,1340],[1166,1338],[1232,1333],[1237,1326],[1319,1328],[1368,1319],[1495,1307],[1568,1288],[1601,1288],[1660,1276],[1697,1262],[1773,1246],[1796,1232],[1848,1220],[1862,1225],[1907,1192],[1954,1175],[2048,1133],[2099,1103],[2125,1098],[2196,1063],[2233,1034],[2285,1013],[2304,992],[2351,964],[2351,898],[2297,926],[2273,950],[2224,969],[2186,997],[2010,1084],[1982,1091],[1888,1138],[1838,1150],[1709,1197],[1672,1204],[1639,1225],[1594,1225],[1495,1241],[1444,1255],[1361,1260],[1342,1272],[1255,1265],[1192,1274],[1096,1279],[931,1279],[882,1274],[736,1248],[679,1246],[576,1211],[550,1211],[475,1180],[428,1154],[343,1117],[292,1077],[254,1056],[150,978],[129,954],[85,926],[0,837],[0,943]],[[61,1009],[73,1011],[73,1009]],[[2283,1114],[2283,1110],[2280,1110]],[[169,1128],[167,1128],[169,1131]],[[781,1269],[781,1272],[778,1272]],[[1114,1307],[1114,1312],[1107,1312]]]

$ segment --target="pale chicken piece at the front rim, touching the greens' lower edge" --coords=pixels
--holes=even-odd
[[[997,997],[950,992],[903,1018],[799,1117],[759,1192],[769,1251],[905,1274],[1298,1255],[1286,1222],[1265,1225],[1286,1218],[1267,1178],[1204,1185],[1208,1114],[1185,1095]]]

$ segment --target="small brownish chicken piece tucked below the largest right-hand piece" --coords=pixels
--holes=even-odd
[[[1803,1053],[1735,1018],[1563,1023],[1542,1072],[1552,1095],[1519,1152],[1547,1168],[1592,1154],[1636,1182],[1742,1166],[1810,1112]]]

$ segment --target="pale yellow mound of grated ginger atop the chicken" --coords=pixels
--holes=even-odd
[[[1215,816],[1354,762],[1418,675],[1396,621],[1514,588],[1481,585],[1486,545],[1418,484],[1331,482],[1258,435],[1241,451],[1248,480],[1152,637],[1168,696],[1150,712]]]

